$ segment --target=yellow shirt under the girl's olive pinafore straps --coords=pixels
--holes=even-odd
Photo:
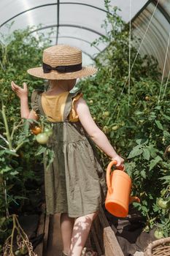
[[[69,95],[69,91],[65,91],[58,95],[47,95],[45,92],[42,93],[42,108],[45,112],[45,116],[49,121],[63,121],[63,113],[66,105],[66,99]],[[72,100],[72,110],[69,113],[69,121],[78,121],[76,110],[74,109],[74,103],[80,99],[82,94],[78,94]]]

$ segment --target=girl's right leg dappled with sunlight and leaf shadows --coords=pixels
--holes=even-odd
[[[90,227],[96,215],[97,213],[95,212],[75,219],[69,256],[81,255],[82,249],[85,246],[85,242],[90,232]]]

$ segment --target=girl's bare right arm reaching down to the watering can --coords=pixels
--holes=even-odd
[[[88,132],[88,135],[96,143],[96,145],[104,151],[112,160],[117,161],[117,166],[123,165],[124,159],[120,157],[112,145],[109,143],[107,136],[101,131],[93,121],[90,110],[82,97],[77,100],[75,105],[82,127]]]

